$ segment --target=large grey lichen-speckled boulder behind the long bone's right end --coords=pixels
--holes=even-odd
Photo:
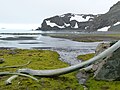
[[[97,54],[105,50],[104,46],[106,47],[106,44],[101,45],[99,45],[100,48],[97,47]],[[97,62],[93,69],[96,69],[94,73],[96,80],[120,80],[120,48],[102,61]]]

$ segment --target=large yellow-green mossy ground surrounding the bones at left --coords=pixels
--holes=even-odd
[[[5,62],[2,66],[22,65],[31,61],[31,63],[22,68],[31,69],[57,69],[69,66],[59,60],[59,54],[49,50],[0,50],[0,58]],[[21,68],[21,67],[19,67]],[[15,72],[19,68],[4,68],[0,72]],[[30,78],[19,76],[13,80],[12,84],[5,85],[5,81],[11,76],[0,76],[0,90],[83,90],[76,79],[76,72],[61,75],[58,77],[38,77],[39,82]]]

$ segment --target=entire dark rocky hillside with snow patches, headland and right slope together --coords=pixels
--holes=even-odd
[[[37,30],[120,31],[120,1],[105,14],[67,13],[44,19]]]

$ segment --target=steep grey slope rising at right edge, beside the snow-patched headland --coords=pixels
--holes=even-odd
[[[93,24],[89,29],[97,31],[98,29],[108,26],[109,31],[118,30],[117,28],[120,26],[120,2],[113,5],[107,13],[94,18]]]

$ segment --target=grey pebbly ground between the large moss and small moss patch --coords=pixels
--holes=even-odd
[[[77,59],[77,56],[80,54],[93,53],[93,49],[62,49],[62,48],[52,48],[53,51],[56,51],[60,55],[60,60],[66,62],[70,65],[75,65],[81,62]]]

